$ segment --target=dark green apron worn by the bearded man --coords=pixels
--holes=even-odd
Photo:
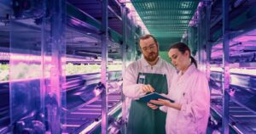
[[[150,84],[154,92],[168,92],[166,75],[139,73],[137,83]],[[160,109],[150,109],[147,103],[131,101],[128,119],[128,134],[165,134],[166,113]]]

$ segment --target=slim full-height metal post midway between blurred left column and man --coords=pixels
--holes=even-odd
[[[108,0],[102,0],[102,84],[106,87],[102,92],[102,134],[108,133]]]

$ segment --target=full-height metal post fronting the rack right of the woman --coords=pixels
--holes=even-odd
[[[222,111],[222,133],[228,134],[229,129],[229,102],[230,95],[228,90],[230,88],[230,41],[229,41],[229,0],[222,1],[223,10],[223,77],[222,77],[222,90],[223,90],[223,111]]]

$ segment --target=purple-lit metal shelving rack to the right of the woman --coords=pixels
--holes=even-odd
[[[200,5],[197,23],[189,27],[189,47],[210,80],[207,132],[255,133],[256,3],[209,0]]]

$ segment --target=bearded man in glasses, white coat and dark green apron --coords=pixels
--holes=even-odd
[[[147,103],[137,101],[148,92],[168,92],[172,75],[176,70],[159,56],[159,44],[154,36],[140,38],[142,59],[131,63],[125,70],[123,92],[131,98],[128,119],[128,134],[166,133],[166,114],[159,109],[152,110]]]

